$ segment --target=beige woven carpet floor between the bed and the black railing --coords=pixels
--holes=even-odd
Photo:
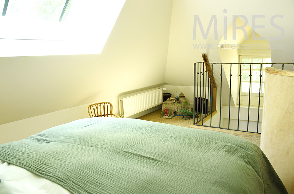
[[[139,117],[138,119],[142,120],[149,120],[149,121],[154,121],[154,122],[161,122],[161,123],[166,123],[170,125],[176,125],[176,126],[181,126],[181,127],[190,127],[193,125],[193,118],[190,120],[185,120],[184,118],[182,119],[182,116],[176,116],[171,119],[164,119],[160,117],[161,114],[161,109],[155,110],[152,113],[149,113],[147,115],[144,115],[142,117]],[[216,130],[213,130],[216,131]],[[229,130],[228,130],[229,131]],[[230,132],[223,132],[227,133],[230,135],[235,135],[244,139],[249,140],[250,142],[255,143],[260,147],[260,137],[259,136],[253,136],[253,135],[244,135],[244,134],[237,134],[237,133],[230,133]]]

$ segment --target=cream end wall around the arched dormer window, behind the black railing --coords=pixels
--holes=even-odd
[[[294,55],[294,26],[292,23],[294,13],[293,1],[194,1],[174,0],[173,14],[171,18],[171,31],[168,46],[168,58],[166,65],[165,82],[167,85],[193,85],[193,63],[203,61],[201,54],[206,53],[210,62],[220,62],[218,49],[194,49],[193,44],[214,44],[215,46],[223,37],[223,21],[227,17],[227,26],[233,21],[233,15],[243,15],[248,18],[248,25],[252,27],[252,15],[265,15],[265,18],[256,18],[256,25],[264,25],[265,28],[256,28],[255,31],[265,37],[270,44],[279,43],[284,49],[271,51],[273,62],[293,62]],[[208,6],[209,4],[209,6]],[[227,13],[223,10],[226,9]],[[285,35],[280,40],[272,40],[272,37],[279,37],[280,30],[270,24],[270,18],[276,14],[283,15],[283,18],[275,18],[274,23],[281,26]],[[218,39],[214,38],[213,25],[206,40],[203,39],[197,25],[196,40],[193,40],[194,15],[199,15],[203,29],[206,31],[212,15],[216,15],[218,26]],[[219,73],[219,72],[216,72]],[[217,83],[219,86],[219,82]]]

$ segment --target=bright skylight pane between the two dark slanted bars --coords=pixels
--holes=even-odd
[[[6,16],[59,21],[66,0],[9,1]]]

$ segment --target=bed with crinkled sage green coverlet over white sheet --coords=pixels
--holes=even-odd
[[[138,119],[52,127],[1,144],[0,160],[0,193],[287,193],[245,139]]]

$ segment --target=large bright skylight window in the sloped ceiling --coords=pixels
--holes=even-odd
[[[124,3],[0,0],[0,57],[99,54]]]

